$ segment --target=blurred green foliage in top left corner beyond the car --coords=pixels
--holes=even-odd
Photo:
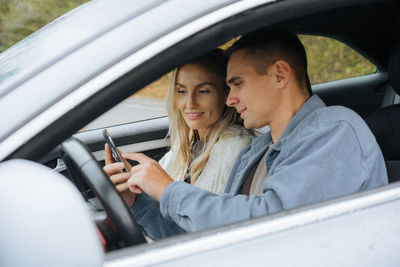
[[[0,52],[88,0],[0,0]]]

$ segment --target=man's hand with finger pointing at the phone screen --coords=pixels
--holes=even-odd
[[[165,188],[173,182],[161,165],[141,153],[126,153],[124,158],[135,160],[140,164],[132,167],[132,176],[128,180],[128,187],[132,192],[141,188],[153,199],[160,201]]]

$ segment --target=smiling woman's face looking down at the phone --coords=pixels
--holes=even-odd
[[[204,137],[224,110],[223,82],[202,65],[187,64],[178,70],[175,90],[175,103],[186,124]]]

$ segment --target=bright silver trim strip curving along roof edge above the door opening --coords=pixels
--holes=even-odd
[[[43,128],[47,127],[56,119],[67,113],[78,104],[94,95],[112,81],[128,73],[131,69],[152,58],[168,47],[186,39],[192,34],[218,23],[231,16],[252,9],[276,0],[245,0],[233,3],[212,13],[209,13],[197,20],[194,20],[183,27],[176,29],[157,41],[137,51],[133,55],[122,60],[117,65],[99,74],[80,88],[61,99],[55,105],[38,115],[35,119],[18,129],[0,144],[0,160],[17,150],[22,144],[29,141]]]

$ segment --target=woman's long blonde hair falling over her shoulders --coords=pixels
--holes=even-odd
[[[221,79],[222,88],[225,91],[226,96],[228,96],[229,88],[225,84],[227,58],[222,50],[215,49],[205,56],[187,64],[198,64],[215,73],[217,77]],[[171,174],[173,177],[179,177],[179,179],[182,180],[187,168],[189,168],[190,150],[191,145],[195,140],[195,130],[190,129],[187,126],[182,113],[175,102],[175,82],[178,71],[179,69],[173,71],[167,97],[167,110],[170,120],[168,134],[171,139],[171,149],[173,153],[175,153],[175,162]],[[238,134],[237,131],[233,133],[226,131],[226,129],[231,125],[240,123],[236,110],[225,106],[222,116],[210,127],[210,129],[208,129],[208,132],[203,138],[202,141],[204,142],[204,146],[200,155],[190,165],[189,173],[192,184],[196,182],[197,178],[206,166],[215,143],[217,143],[220,138],[226,137],[227,135]]]

